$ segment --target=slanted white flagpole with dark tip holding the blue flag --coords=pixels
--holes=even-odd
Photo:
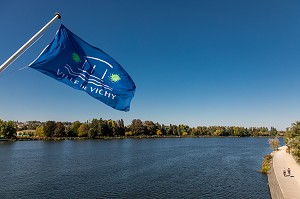
[[[5,70],[12,62],[14,62],[34,41],[41,36],[41,34],[56,20],[60,19],[61,16],[57,12],[51,21],[49,21],[40,31],[38,31],[30,40],[28,40],[18,51],[16,51],[8,60],[6,60],[0,66],[0,73]]]

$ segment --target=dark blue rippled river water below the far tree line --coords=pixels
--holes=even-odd
[[[268,138],[0,142],[0,198],[270,198]]]

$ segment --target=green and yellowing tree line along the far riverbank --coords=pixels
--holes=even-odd
[[[271,127],[238,127],[238,126],[197,126],[189,127],[185,124],[180,125],[164,125],[153,121],[142,121],[140,119],[132,120],[131,124],[125,125],[121,120],[104,120],[93,119],[92,121],[79,122],[29,122],[22,127],[12,126],[12,121],[9,123],[10,128],[5,131],[10,131],[10,136],[16,133],[16,130],[34,130],[31,132],[32,137],[86,137],[86,138],[101,138],[101,137],[157,137],[157,136],[276,136],[281,131]],[[2,129],[0,123],[0,129]],[[4,131],[0,131],[4,132]],[[1,134],[0,134],[1,135]],[[7,136],[8,137],[8,136]]]

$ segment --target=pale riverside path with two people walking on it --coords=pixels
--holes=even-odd
[[[286,148],[282,146],[279,151],[272,153],[275,176],[285,199],[300,199],[300,165],[286,152]],[[291,175],[284,176],[283,170],[287,171],[288,168],[291,169]]]

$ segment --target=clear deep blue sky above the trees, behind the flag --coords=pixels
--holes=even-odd
[[[3,120],[152,120],[274,126],[300,119],[300,1],[1,1],[0,62],[44,36],[0,74]],[[63,23],[130,74],[129,112],[27,68]]]

